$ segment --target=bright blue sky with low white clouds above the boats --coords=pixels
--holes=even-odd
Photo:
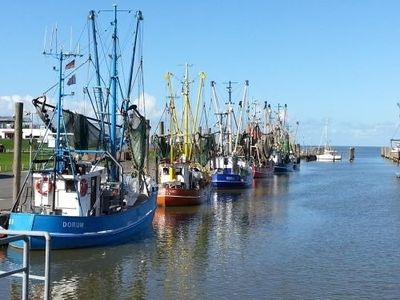
[[[400,138],[400,1],[4,1],[0,9],[0,115],[40,96],[55,81],[42,55],[57,24],[77,37],[89,10],[141,10],[147,114],[156,124],[166,102],[164,74],[194,73],[217,82],[249,80],[250,100],[288,105],[297,142],[388,146]],[[71,99],[75,103],[77,99]],[[74,102],[75,101],[75,102]]]

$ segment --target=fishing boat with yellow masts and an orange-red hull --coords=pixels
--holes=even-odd
[[[169,90],[169,125],[170,132],[166,137],[162,133],[157,137],[158,143],[166,146],[166,138],[169,140],[169,157],[162,155],[162,161],[158,165],[158,195],[157,204],[159,206],[188,206],[199,205],[209,197],[209,176],[194,155],[195,139],[194,136],[198,120],[198,110],[194,114],[194,121],[189,121],[191,114],[189,99],[189,66],[186,64],[183,80],[183,126],[179,126],[172,88],[172,74],[166,74],[167,86]],[[199,92],[197,103],[201,100],[204,87],[205,74],[200,73]],[[199,105],[197,105],[199,107]],[[181,130],[183,128],[183,131]],[[199,133],[197,134],[199,136]],[[198,138],[199,139],[199,138]],[[163,143],[164,142],[164,143]],[[161,146],[163,147],[163,146]]]

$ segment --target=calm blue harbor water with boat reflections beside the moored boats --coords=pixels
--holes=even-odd
[[[399,167],[379,151],[356,147],[353,162],[302,162],[251,189],[212,192],[198,207],[158,208],[128,244],[53,251],[52,297],[398,299]],[[21,257],[0,250],[0,270]],[[31,273],[43,275],[43,262],[33,252]],[[21,285],[0,279],[0,299],[19,299]],[[30,281],[31,298],[42,295]]]

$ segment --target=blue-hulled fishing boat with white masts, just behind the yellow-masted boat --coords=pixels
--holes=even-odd
[[[217,154],[212,159],[211,184],[219,189],[243,189],[249,188],[253,183],[253,171],[246,157],[246,151],[239,143],[242,125],[242,116],[236,131],[233,132],[234,109],[232,102],[232,82],[228,83],[228,103],[226,112],[219,110],[218,100],[215,91],[215,82],[211,82],[213,90],[213,102],[215,103],[216,115],[218,117],[218,142]],[[241,114],[246,107],[248,81],[245,82],[243,99],[241,101]],[[226,118],[226,120],[224,120]],[[226,125],[224,125],[226,121]],[[246,142],[245,142],[246,143]]]

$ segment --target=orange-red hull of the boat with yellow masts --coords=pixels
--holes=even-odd
[[[161,187],[158,189],[158,206],[190,206],[200,205],[209,197],[209,186],[199,189],[183,189],[179,187]]]

